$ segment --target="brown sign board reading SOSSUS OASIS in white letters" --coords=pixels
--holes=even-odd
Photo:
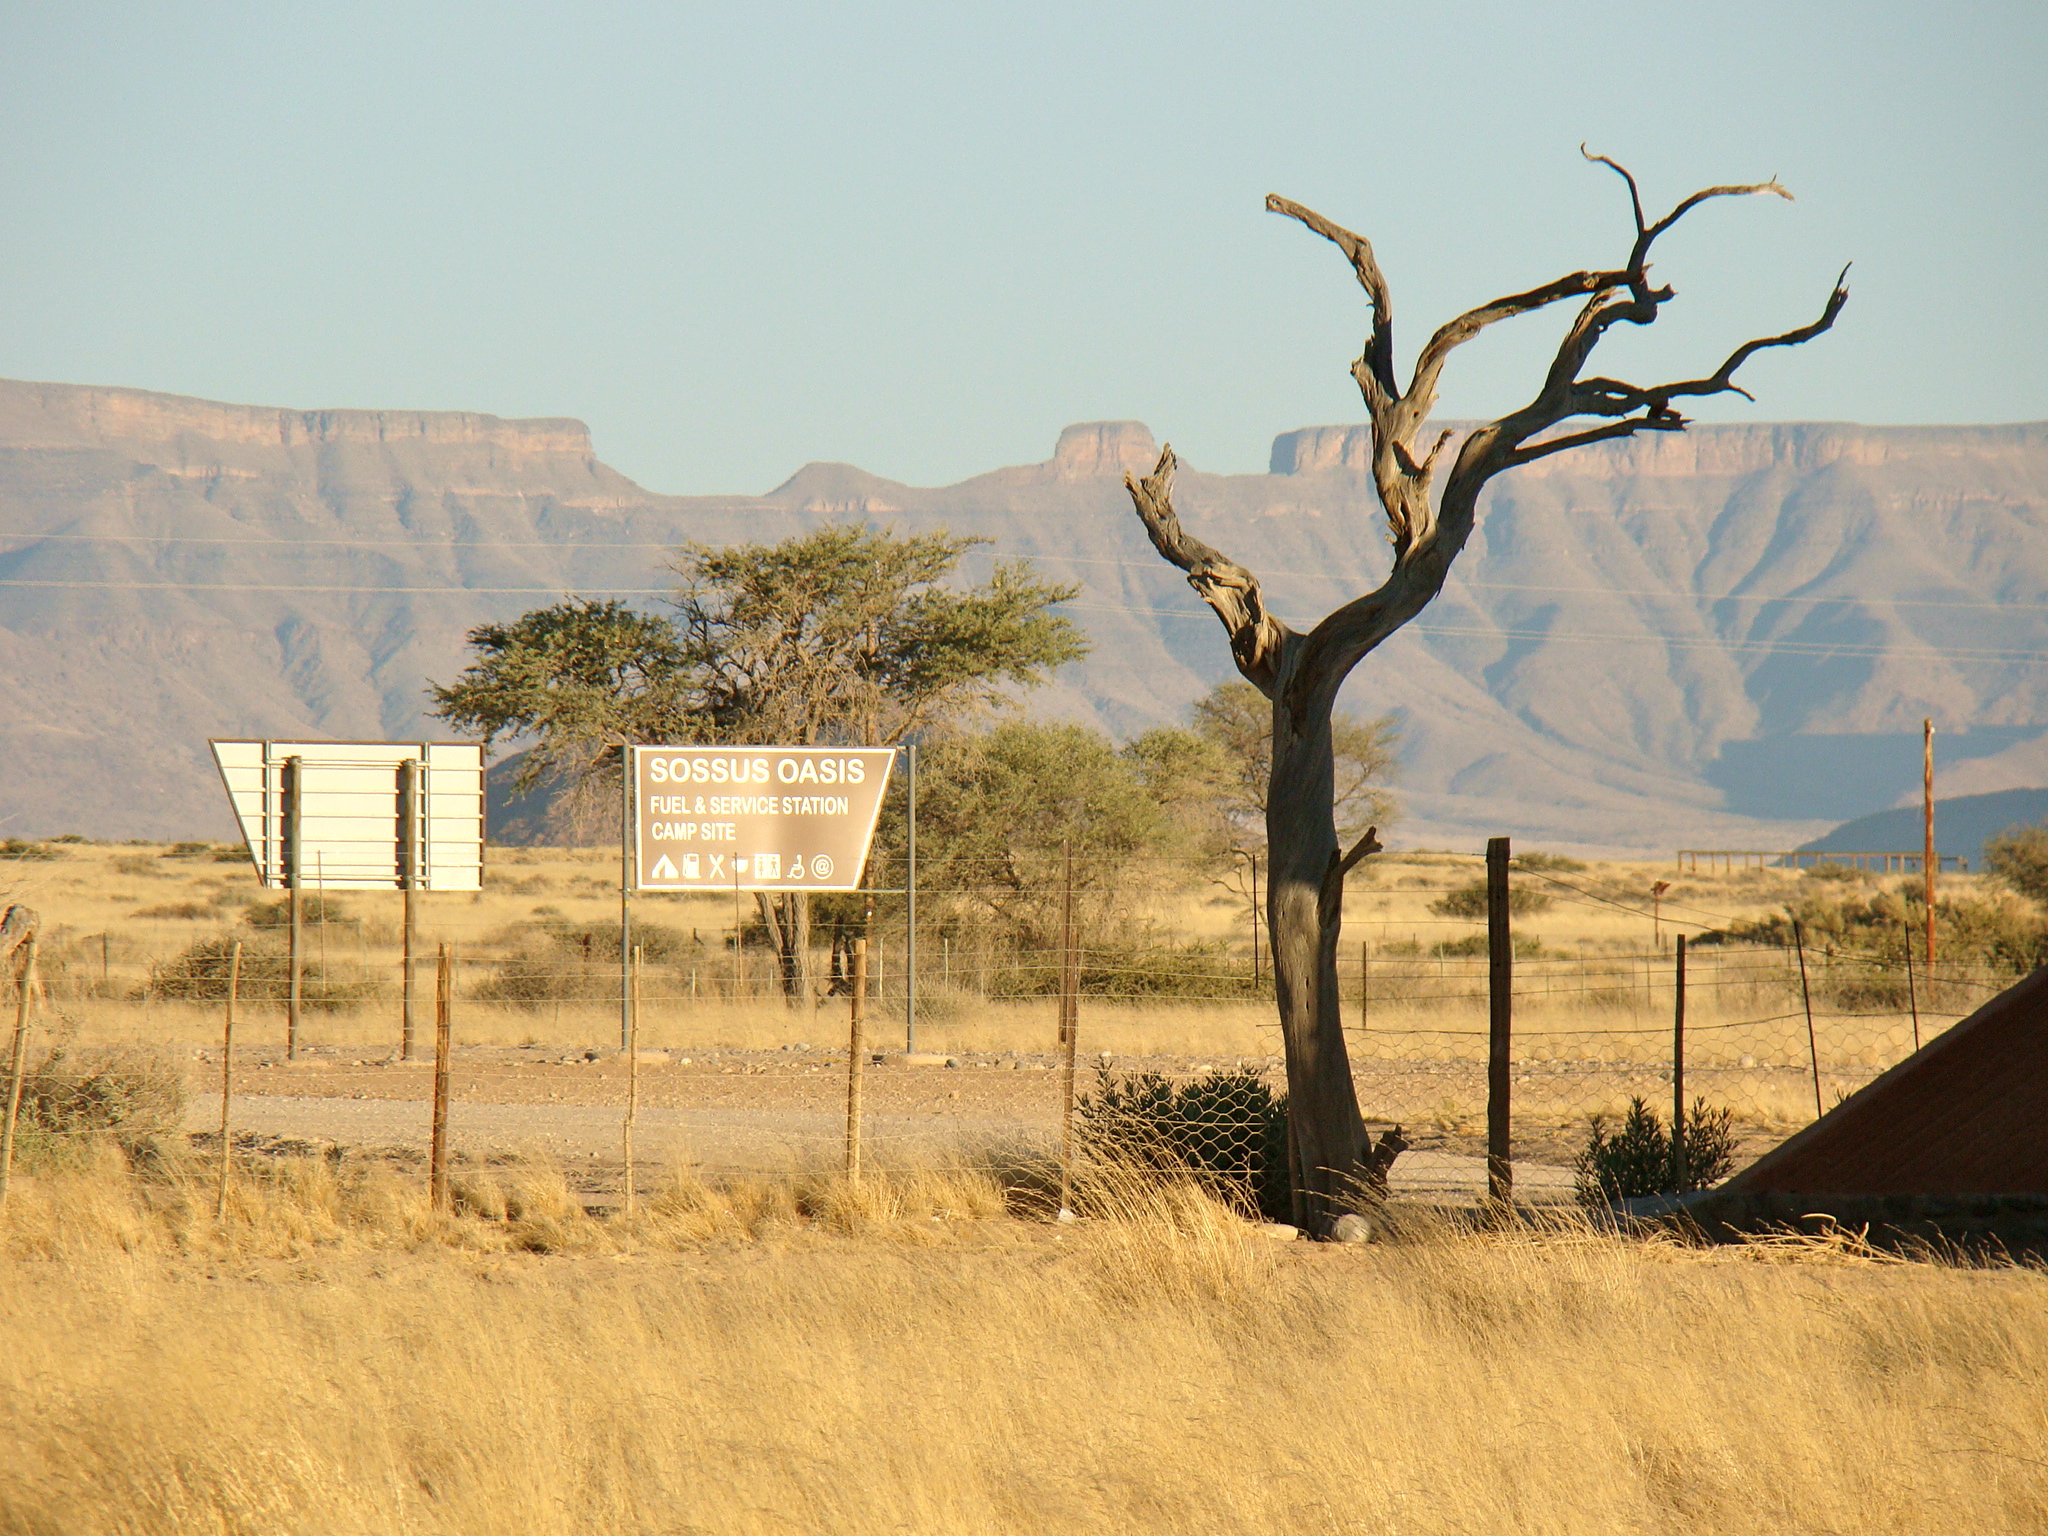
[[[633,748],[635,891],[856,891],[893,748]]]

